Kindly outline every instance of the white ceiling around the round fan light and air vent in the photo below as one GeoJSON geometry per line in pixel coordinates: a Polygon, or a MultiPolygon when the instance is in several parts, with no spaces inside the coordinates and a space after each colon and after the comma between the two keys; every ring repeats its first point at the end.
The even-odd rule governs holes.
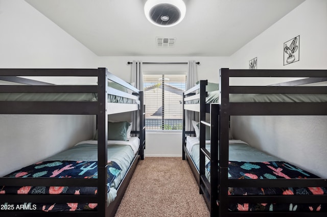
{"type": "Polygon", "coordinates": [[[146,0],[26,0],[98,56],[228,57],[304,0],[184,0],[168,28],[145,17],[146,0]],[[176,37],[157,47],[156,37],[176,37]]]}

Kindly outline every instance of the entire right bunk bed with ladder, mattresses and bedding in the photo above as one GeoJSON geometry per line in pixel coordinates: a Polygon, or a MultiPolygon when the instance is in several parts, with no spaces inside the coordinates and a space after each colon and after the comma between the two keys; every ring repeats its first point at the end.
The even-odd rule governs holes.
{"type": "MultiPolygon", "coordinates": [[[[186,106],[186,109],[190,108],[190,110],[198,107],[195,111],[200,111],[200,119],[201,112],[210,113],[210,122],[203,119],[200,120],[200,125],[202,125],[200,133],[201,130],[202,133],[200,134],[200,169],[198,176],[200,193],[203,194],[211,216],[272,216],[276,214],[283,216],[325,216],[327,212],[326,179],[303,171],[288,162],[278,160],[254,162],[252,165],[256,167],[260,164],[270,164],[269,166],[271,166],[272,170],[277,170],[278,167],[283,166],[285,172],[289,168],[293,171],[301,171],[309,175],[305,176],[301,173],[301,175],[290,175],[287,178],[282,178],[278,175],[277,178],[272,178],[272,176],[271,178],[263,178],[263,174],[254,173],[253,175],[255,177],[260,178],[255,178],[254,176],[246,178],[243,176],[242,178],[239,175],[240,173],[244,174],[244,171],[241,171],[241,166],[251,164],[251,162],[232,161],[229,159],[232,150],[230,150],[228,134],[230,116],[327,115],[326,86],[287,86],[290,84],[301,85],[326,81],[327,71],[220,69],[219,76],[219,103],[206,105],[205,100],[202,99],[201,101],[201,96],[198,96],[200,97],[199,105],[186,106]],[[297,80],[285,84],[258,87],[230,86],[229,79],[231,77],[305,78],[301,82],[297,80]],[[303,83],[303,80],[306,83],[303,83]],[[277,94],[280,98],[272,98],[271,96],[274,94],[277,94]],[[299,99],[296,97],[296,94],[308,97],[301,96],[301,99],[299,99]],[[287,96],[287,99],[285,96],[287,96]],[[253,97],[259,98],[253,99],[253,97]],[[209,111],[208,106],[210,107],[209,111]],[[201,107],[203,108],[202,111],[201,107]],[[201,142],[201,137],[205,136],[205,126],[209,126],[211,132],[218,132],[211,133],[209,149],[205,145],[205,142],[203,142],[203,138],[201,142]],[[244,192],[244,189],[248,190],[250,188],[257,190],[257,192],[252,194],[247,191],[246,193],[244,192]],[[294,192],[287,191],[290,195],[283,195],[282,191],[281,194],[269,195],[265,191],[266,189],[273,189],[273,192],[281,192],[281,188],[293,190],[297,188],[301,194],[296,195],[294,192]],[[258,189],[261,193],[258,193],[258,189]],[[319,191],[313,193],[311,191],[312,189],[313,191],[314,189],[318,189],[319,191]],[[275,209],[275,204],[284,207],[277,210],[275,209]],[[303,205],[307,210],[300,208],[294,209],[297,205],[299,207],[303,205]]],[[[203,83],[205,84],[205,81],[203,83]]],[[[201,91],[205,92],[204,87],[201,89],[201,84],[200,87],[195,87],[195,89],[200,89],[200,95],[201,91]]],[[[186,94],[190,95],[189,92],[186,92],[186,94]]],[[[192,100],[195,98],[195,95],[193,95],[191,96],[192,100]]],[[[205,94],[203,94],[203,97],[205,97],[205,94]]],[[[184,101],[188,101],[188,98],[184,99],[184,101]]],[[[185,154],[187,156],[188,152],[185,151],[185,154]]]]}

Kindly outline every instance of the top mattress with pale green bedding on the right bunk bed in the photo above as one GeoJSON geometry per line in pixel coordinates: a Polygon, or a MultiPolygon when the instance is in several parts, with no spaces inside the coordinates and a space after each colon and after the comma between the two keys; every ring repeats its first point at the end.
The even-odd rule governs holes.
{"type": "MultiPolygon", "coordinates": [[[[327,102],[327,94],[230,94],[230,102],[327,102]]],[[[218,103],[219,91],[208,92],[206,103],[218,103]]],[[[200,103],[200,99],[186,101],[200,103]]]]}

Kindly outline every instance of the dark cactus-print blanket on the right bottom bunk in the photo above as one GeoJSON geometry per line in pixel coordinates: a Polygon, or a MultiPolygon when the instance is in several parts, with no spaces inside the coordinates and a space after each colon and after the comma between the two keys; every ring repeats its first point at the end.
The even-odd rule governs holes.
{"type": "MultiPolygon", "coordinates": [[[[210,163],[206,165],[210,169],[210,163]]],[[[228,179],[319,178],[285,161],[229,161],[228,179]]],[[[229,187],[228,195],[327,195],[324,187],[229,187]]],[[[231,211],[323,211],[326,204],[230,204],[231,211]]]]}

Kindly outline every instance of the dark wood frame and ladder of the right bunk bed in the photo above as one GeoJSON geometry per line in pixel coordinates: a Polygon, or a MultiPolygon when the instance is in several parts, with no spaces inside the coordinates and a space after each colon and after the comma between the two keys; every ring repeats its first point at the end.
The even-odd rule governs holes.
{"type": "MultiPolygon", "coordinates": [[[[230,116],[276,116],[276,115],[327,115],[327,102],[230,102],[230,94],[269,94],[269,93],[297,93],[297,94],[327,94],[326,86],[322,87],[297,87],[297,85],[325,82],[327,70],[230,70],[220,69],[220,96],[219,103],[205,104],[205,82],[185,92],[185,95],[194,95],[196,89],[200,89],[200,171],[198,174],[192,168],[193,173],[199,177],[199,191],[211,213],[211,216],[325,216],[326,212],[230,212],[228,204],[232,203],[326,203],[327,195],[288,195],[288,196],[229,196],[228,187],[327,187],[325,178],[307,179],[228,179],[228,133],[230,116]],[[292,82],[274,84],[271,86],[229,86],[230,77],[308,77],[292,82]],[[201,94],[201,92],[204,92],[201,94]],[[201,100],[201,97],[203,98],[201,100]],[[208,108],[210,107],[210,108],[208,108]],[[202,109],[202,110],[201,110],[202,109]],[[207,123],[201,113],[210,113],[211,122],[207,123]],[[205,148],[205,125],[211,126],[211,151],[205,148]],[[202,127],[202,128],[201,128],[202,127]],[[202,132],[201,132],[202,130],[202,132]],[[215,154],[213,154],[215,153],[215,154]],[[210,181],[205,176],[205,157],[211,162],[210,181]],[[217,205],[219,203],[219,205],[217,205]]],[[[188,99],[185,99],[187,101],[188,99]]],[[[199,111],[199,108],[192,111],[199,111]]],[[[194,133],[184,131],[183,133],[194,133]]],[[[183,159],[185,134],[183,134],[183,159]]],[[[190,161],[189,161],[190,162],[190,161]]],[[[197,178],[196,177],[196,178],[197,178]]]]}

